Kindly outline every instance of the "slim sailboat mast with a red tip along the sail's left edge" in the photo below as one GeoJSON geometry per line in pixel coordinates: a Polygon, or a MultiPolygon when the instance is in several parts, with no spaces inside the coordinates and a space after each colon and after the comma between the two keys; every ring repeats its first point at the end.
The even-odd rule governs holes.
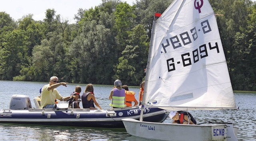
{"type": "Polygon", "coordinates": [[[146,78],[145,78],[145,85],[144,85],[144,93],[142,95],[142,105],[140,108],[140,121],[142,121],[143,118],[143,112],[144,112],[144,105],[145,105],[145,95],[147,94],[147,86],[148,86],[148,75],[149,75],[149,68],[150,68],[150,57],[152,53],[152,46],[153,46],[153,39],[155,34],[155,26],[156,26],[156,17],[160,17],[160,13],[155,13],[153,25],[152,25],[152,31],[151,31],[151,38],[150,38],[150,47],[149,47],[149,53],[148,53],[148,65],[146,67],[146,78]]]}

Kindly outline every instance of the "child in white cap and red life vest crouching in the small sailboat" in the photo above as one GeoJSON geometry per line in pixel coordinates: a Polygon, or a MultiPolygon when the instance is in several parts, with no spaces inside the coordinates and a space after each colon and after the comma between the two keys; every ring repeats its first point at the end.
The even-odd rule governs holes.
{"type": "Polygon", "coordinates": [[[196,119],[189,112],[177,111],[170,112],[170,118],[173,119],[172,123],[178,124],[196,124],[196,119]]]}

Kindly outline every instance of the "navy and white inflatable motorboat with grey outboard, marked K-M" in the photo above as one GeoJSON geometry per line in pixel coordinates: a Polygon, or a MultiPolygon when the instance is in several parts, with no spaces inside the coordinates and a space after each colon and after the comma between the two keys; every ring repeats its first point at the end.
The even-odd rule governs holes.
{"type": "MultiPolygon", "coordinates": [[[[124,128],[122,119],[138,120],[141,111],[140,106],[107,110],[73,109],[68,107],[68,102],[56,104],[56,109],[40,109],[37,98],[34,98],[34,103],[36,108],[32,108],[28,96],[13,95],[9,109],[0,110],[0,123],[124,128]]],[[[167,115],[166,110],[144,107],[143,121],[161,123],[167,115]]]]}

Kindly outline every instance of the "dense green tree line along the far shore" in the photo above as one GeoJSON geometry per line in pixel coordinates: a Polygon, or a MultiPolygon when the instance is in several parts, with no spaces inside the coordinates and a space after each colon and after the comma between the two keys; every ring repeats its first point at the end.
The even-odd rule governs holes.
{"type": "MultiPolygon", "coordinates": [[[[145,77],[154,13],[173,0],[102,0],[79,9],[70,24],[45,12],[14,21],[0,12],[0,79],[138,86],[145,77]]],[[[256,90],[256,4],[251,0],[209,0],[215,14],[234,90],[256,90]]]]}

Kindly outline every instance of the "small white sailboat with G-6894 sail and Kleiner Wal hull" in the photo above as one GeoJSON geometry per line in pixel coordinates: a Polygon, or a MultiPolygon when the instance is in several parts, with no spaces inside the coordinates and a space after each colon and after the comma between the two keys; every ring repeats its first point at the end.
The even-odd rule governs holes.
{"type": "MultiPolygon", "coordinates": [[[[174,0],[154,20],[144,88],[143,106],[172,111],[236,109],[208,0],[174,0]]],[[[184,125],[145,122],[142,118],[122,121],[127,133],[149,139],[237,140],[238,128],[232,123],[184,125]]]]}

